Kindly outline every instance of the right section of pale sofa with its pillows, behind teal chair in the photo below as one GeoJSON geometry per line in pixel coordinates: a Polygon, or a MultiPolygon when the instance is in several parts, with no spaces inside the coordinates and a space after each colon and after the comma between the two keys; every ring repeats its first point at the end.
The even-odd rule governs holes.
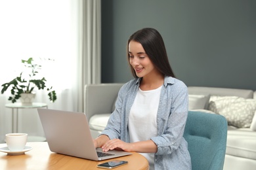
{"type": "Polygon", "coordinates": [[[217,112],[228,120],[223,169],[255,169],[256,129],[253,126],[256,124],[256,116],[254,119],[253,116],[256,110],[256,92],[232,88],[188,87],[188,93],[190,110],[217,112]],[[201,101],[196,99],[200,96],[201,101]],[[204,101],[203,97],[206,98],[204,101]]]}

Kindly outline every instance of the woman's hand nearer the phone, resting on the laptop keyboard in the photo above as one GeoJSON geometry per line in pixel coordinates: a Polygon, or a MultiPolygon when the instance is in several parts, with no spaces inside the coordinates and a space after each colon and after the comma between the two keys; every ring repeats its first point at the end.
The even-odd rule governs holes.
{"type": "Polygon", "coordinates": [[[121,141],[120,139],[112,139],[110,141],[107,141],[102,145],[102,150],[104,152],[107,152],[108,150],[124,150],[126,152],[131,152],[132,150],[132,144],[131,143],[125,143],[121,141]]]}

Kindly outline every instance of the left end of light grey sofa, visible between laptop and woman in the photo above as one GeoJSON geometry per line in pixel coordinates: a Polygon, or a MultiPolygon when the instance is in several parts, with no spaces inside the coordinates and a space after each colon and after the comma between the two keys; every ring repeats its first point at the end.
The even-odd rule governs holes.
{"type": "Polygon", "coordinates": [[[105,128],[115,109],[117,93],[123,84],[87,84],[84,89],[85,114],[95,138],[105,128]]]}

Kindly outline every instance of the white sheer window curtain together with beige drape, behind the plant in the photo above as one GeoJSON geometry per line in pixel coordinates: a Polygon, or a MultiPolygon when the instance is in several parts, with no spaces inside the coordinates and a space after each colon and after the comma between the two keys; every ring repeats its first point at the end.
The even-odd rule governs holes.
{"type": "MultiPolygon", "coordinates": [[[[58,99],[38,90],[35,102],[83,112],[84,84],[100,82],[100,0],[0,0],[0,23],[0,86],[20,74],[21,59],[51,58],[41,74],[58,99]]],[[[12,132],[9,95],[0,94],[0,143],[12,132]]],[[[44,135],[36,109],[18,114],[18,132],[44,135]]]]}

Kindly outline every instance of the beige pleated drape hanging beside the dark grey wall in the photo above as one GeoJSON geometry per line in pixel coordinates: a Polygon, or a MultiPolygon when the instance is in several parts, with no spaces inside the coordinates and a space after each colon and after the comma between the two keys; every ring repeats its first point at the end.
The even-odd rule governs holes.
{"type": "MultiPolygon", "coordinates": [[[[79,73],[79,92],[85,84],[96,84],[101,81],[101,1],[81,1],[80,41],[81,52],[79,73]]],[[[82,93],[83,94],[83,93],[82,93]]],[[[83,108],[83,95],[79,96],[79,108],[83,108]]],[[[84,110],[84,109],[83,109],[84,110]]],[[[82,110],[79,110],[82,111],[82,110]]]]}

